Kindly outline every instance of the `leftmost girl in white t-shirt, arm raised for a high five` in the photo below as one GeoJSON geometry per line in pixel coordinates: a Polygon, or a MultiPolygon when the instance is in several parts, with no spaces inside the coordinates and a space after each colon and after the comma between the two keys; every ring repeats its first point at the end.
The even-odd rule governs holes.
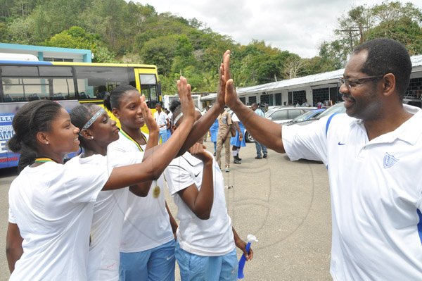
{"type": "Polygon", "coordinates": [[[180,139],[191,130],[194,107],[183,77],[178,90],[189,116],[185,131],[143,163],[113,170],[106,158],[84,165],[75,159],[63,165],[65,154],[79,148],[79,129],[60,104],[39,100],[20,108],[13,119],[15,135],[9,149],[19,152],[25,146],[37,158],[9,190],[6,255],[11,280],[87,280],[89,231],[98,193],[156,180],[179,151],[180,139]]]}

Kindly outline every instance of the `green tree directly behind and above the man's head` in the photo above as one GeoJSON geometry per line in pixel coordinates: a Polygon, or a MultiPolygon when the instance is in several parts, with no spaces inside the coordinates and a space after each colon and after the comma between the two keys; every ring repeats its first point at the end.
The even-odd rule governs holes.
{"type": "Polygon", "coordinates": [[[319,63],[326,69],[339,68],[355,46],[379,37],[396,39],[410,54],[421,54],[421,23],[422,12],[411,3],[383,1],[354,7],[338,19],[337,38],[319,47],[319,63]]]}

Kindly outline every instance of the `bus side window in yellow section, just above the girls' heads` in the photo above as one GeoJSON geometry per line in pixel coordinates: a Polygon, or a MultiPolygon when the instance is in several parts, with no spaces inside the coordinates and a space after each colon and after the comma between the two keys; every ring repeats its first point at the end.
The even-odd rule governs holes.
{"type": "Polygon", "coordinates": [[[133,68],[108,66],[75,66],[78,99],[103,99],[121,84],[134,80],[133,68]]]}

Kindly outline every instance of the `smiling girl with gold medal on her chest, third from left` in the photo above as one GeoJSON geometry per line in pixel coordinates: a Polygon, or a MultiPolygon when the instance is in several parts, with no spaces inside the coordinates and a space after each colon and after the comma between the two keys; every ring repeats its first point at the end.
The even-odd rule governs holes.
{"type": "MultiPolygon", "coordinates": [[[[150,135],[141,132],[146,116],[139,104],[139,92],[120,85],[104,99],[109,111],[120,120],[122,130],[117,142],[108,146],[111,166],[120,166],[125,154],[143,156],[148,143],[158,144],[158,127],[150,135]]],[[[148,116],[149,117],[149,116],[148,116]]],[[[157,146],[158,148],[160,146],[157,146]]],[[[146,152],[148,153],[148,152],[146,152]]],[[[174,233],[176,220],[165,202],[164,178],[141,196],[129,193],[120,244],[120,280],[174,280],[174,233]]]]}

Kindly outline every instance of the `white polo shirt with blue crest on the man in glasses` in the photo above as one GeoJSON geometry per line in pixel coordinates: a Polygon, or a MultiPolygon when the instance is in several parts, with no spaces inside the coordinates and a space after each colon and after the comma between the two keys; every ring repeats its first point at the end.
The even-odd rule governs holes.
{"type": "Polygon", "coordinates": [[[328,166],[334,280],[422,280],[422,111],[369,141],[362,120],[334,115],[283,126],[290,160],[328,166]]]}

